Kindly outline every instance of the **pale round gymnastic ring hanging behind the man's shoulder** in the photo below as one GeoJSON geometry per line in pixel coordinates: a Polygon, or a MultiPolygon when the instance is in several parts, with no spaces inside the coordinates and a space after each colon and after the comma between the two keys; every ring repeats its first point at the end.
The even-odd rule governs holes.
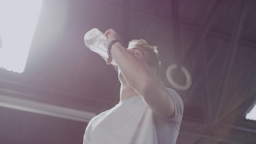
{"type": "Polygon", "coordinates": [[[181,67],[181,71],[183,72],[183,74],[186,77],[186,83],[184,86],[178,85],[176,82],[174,82],[174,80],[172,79],[172,70],[177,68],[177,64],[172,64],[170,65],[167,70],[166,70],[166,77],[168,82],[176,89],[181,90],[181,91],[185,91],[187,89],[189,89],[189,87],[192,84],[192,79],[191,76],[189,74],[189,71],[185,68],[185,67],[181,67]]]}

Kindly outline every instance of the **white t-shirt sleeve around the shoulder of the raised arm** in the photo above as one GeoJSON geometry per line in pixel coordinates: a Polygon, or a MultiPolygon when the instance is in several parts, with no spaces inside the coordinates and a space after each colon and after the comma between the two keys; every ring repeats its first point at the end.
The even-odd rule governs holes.
{"type": "Polygon", "coordinates": [[[175,114],[172,118],[162,117],[162,119],[171,126],[180,126],[182,121],[182,115],[183,115],[183,101],[181,97],[179,97],[179,94],[176,91],[174,91],[171,88],[167,88],[167,90],[171,93],[172,98],[174,100],[175,114]]]}

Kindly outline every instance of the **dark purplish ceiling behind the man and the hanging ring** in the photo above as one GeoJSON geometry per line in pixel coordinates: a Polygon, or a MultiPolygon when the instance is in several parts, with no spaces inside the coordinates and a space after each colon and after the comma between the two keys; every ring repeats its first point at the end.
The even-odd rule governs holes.
{"type": "Polygon", "coordinates": [[[126,44],[146,39],[159,46],[166,87],[175,89],[166,79],[169,65],[190,71],[191,87],[175,89],[184,102],[177,143],[256,143],[256,123],[245,119],[256,99],[256,1],[182,0],[178,16],[173,2],[45,0],[25,71],[0,69],[0,93],[95,113],[110,109],[119,101],[117,73],[85,47],[84,34],[114,28],[126,44]]]}

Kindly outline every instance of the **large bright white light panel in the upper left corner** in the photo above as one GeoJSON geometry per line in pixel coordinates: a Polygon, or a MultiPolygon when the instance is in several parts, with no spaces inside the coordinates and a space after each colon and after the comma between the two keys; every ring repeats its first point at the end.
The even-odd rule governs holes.
{"type": "Polygon", "coordinates": [[[0,68],[22,73],[43,0],[0,0],[0,68]]]}

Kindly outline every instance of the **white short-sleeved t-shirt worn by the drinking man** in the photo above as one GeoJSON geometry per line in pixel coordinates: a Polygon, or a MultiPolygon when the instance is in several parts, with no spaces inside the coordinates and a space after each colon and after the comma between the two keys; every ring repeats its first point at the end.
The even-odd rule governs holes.
{"type": "Polygon", "coordinates": [[[85,130],[84,144],[174,144],[183,115],[178,93],[167,88],[175,103],[173,118],[154,113],[137,95],[121,100],[112,109],[92,118],[85,130]]]}

